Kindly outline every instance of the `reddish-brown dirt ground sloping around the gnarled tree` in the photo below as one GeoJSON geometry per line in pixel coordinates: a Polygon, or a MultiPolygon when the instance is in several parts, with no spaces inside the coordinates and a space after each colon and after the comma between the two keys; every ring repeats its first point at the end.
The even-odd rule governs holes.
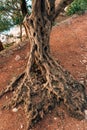
{"type": "MultiPolygon", "coordinates": [[[[52,56],[87,88],[87,14],[74,16],[54,26],[50,44],[52,56]]],[[[29,44],[26,41],[0,53],[0,91],[6,88],[12,77],[25,69],[28,52],[29,44]]],[[[1,110],[1,106],[8,103],[11,97],[12,94],[7,94],[0,99],[0,130],[26,130],[22,107],[17,111],[1,110]]],[[[61,104],[31,130],[87,130],[87,120],[78,121],[70,117],[61,104]]]]}

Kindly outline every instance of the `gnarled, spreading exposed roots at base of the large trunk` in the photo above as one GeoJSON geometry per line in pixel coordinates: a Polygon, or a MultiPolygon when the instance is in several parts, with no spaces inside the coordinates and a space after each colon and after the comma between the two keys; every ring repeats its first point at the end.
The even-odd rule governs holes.
{"type": "Polygon", "coordinates": [[[44,62],[34,60],[29,73],[24,72],[13,79],[0,93],[0,97],[10,91],[13,91],[13,97],[3,108],[18,107],[22,103],[27,117],[27,129],[42,119],[61,100],[72,116],[84,118],[84,110],[87,107],[84,86],[75,81],[71,74],[62,69],[49,55],[45,56],[44,62]]]}

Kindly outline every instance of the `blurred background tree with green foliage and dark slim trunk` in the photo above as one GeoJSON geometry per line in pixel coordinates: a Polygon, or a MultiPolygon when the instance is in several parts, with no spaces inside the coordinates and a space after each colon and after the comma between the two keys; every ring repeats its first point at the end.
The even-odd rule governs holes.
{"type": "Polygon", "coordinates": [[[0,32],[20,25],[22,39],[22,24],[27,13],[30,13],[30,5],[27,5],[25,0],[0,0],[0,32]]]}

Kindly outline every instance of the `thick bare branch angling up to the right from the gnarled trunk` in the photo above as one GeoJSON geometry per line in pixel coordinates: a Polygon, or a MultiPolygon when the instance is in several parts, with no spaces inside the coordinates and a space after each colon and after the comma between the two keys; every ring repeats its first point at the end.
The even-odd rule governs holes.
{"type": "Polygon", "coordinates": [[[60,12],[62,12],[64,10],[64,8],[67,5],[71,4],[72,2],[73,2],[73,0],[60,0],[59,4],[55,10],[54,19],[60,14],[60,12]]]}

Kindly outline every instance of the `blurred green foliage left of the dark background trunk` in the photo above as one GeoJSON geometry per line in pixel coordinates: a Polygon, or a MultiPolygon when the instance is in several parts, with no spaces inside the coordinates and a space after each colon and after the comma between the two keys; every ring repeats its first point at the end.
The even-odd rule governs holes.
{"type": "Polygon", "coordinates": [[[9,29],[14,24],[20,23],[22,20],[22,15],[18,0],[17,3],[15,0],[0,0],[0,16],[1,25],[3,25],[3,28],[2,26],[0,28],[0,32],[9,29]]]}

